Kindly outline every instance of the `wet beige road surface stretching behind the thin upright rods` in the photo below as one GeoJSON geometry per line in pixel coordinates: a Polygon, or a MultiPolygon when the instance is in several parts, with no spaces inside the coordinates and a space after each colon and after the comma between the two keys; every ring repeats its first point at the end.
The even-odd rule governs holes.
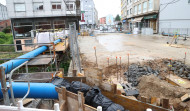
{"type": "MultiPolygon", "coordinates": [[[[170,38],[171,40],[172,38],[170,38]]],[[[187,52],[187,63],[190,64],[190,40],[179,40],[177,45],[166,44],[168,38],[159,35],[141,36],[123,33],[99,34],[96,37],[80,37],[80,51],[89,62],[95,62],[94,47],[97,49],[98,65],[107,66],[107,58],[115,64],[116,56],[127,63],[127,54],[130,54],[130,63],[146,60],[172,58],[184,60],[187,52]]]]}

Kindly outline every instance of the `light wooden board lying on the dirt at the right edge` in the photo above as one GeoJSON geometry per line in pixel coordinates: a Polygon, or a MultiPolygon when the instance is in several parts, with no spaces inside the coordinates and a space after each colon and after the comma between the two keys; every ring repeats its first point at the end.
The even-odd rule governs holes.
{"type": "Polygon", "coordinates": [[[180,78],[180,77],[178,77],[176,75],[172,75],[172,74],[166,76],[166,79],[169,83],[171,83],[173,85],[181,86],[181,87],[184,87],[186,89],[190,88],[190,81],[187,79],[183,79],[183,78],[180,78]]]}

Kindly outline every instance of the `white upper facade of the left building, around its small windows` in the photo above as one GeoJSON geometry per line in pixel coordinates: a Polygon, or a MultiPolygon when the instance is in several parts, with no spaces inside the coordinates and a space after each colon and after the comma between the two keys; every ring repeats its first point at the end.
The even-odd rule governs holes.
{"type": "MultiPolygon", "coordinates": [[[[71,0],[67,0],[71,1],[71,0]]],[[[76,0],[72,0],[76,1],[76,0]]],[[[67,7],[63,0],[6,0],[10,18],[30,18],[30,17],[49,17],[49,16],[66,16],[67,7]],[[34,11],[34,2],[43,3],[43,10],[34,11]],[[52,2],[61,2],[61,9],[53,10],[52,2]],[[24,3],[26,11],[16,12],[15,3],[24,3]]]]}

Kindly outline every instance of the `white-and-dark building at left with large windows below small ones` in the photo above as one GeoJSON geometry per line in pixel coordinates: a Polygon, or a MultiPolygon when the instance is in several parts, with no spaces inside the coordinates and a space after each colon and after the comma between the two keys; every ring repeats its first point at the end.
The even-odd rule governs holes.
{"type": "MultiPolygon", "coordinates": [[[[6,0],[6,3],[15,44],[35,43],[32,30],[66,30],[71,22],[79,29],[80,0],[6,0]]],[[[17,45],[17,51],[23,49],[17,45]]]]}

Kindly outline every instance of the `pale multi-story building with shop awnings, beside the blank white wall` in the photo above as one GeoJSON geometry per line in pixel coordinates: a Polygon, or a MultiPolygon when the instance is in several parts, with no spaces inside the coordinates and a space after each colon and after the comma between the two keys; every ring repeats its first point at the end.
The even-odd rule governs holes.
{"type": "Polygon", "coordinates": [[[127,29],[139,30],[142,27],[152,28],[154,33],[158,32],[158,12],[160,0],[127,0],[127,29]]]}

